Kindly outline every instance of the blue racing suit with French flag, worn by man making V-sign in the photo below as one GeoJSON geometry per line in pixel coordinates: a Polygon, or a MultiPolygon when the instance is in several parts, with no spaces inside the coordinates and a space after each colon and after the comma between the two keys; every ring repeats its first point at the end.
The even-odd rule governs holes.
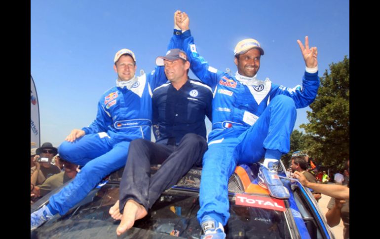
{"type": "Polygon", "coordinates": [[[246,77],[238,73],[232,76],[209,66],[197,53],[190,30],[182,34],[182,39],[191,70],[214,93],[212,131],[203,156],[197,217],[200,222],[204,215],[211,214],[226,225],[230,175],[238,164],[255,163],[264,156],[280,159],[281,153],[289,152],[296,108],[314,101],[318,71],[305,71],[302,87],[293,89],[275,85],[268,78],[246,83],[246,77]]]}

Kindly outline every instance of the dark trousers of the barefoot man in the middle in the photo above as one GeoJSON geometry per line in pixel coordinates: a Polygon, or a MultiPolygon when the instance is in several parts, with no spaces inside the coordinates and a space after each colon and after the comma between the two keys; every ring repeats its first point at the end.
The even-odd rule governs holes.
{"type": "Polygon", "coordinates": [[[133,140],[120,182],[120,213],[129,199],[144,205],[148,211],[161,193],[175,185],[193,165],[202,165],[206,150],[206,140],[196,134],[185,135],[178,146],[142,138],[133,140]],[[151,164],[161,164],[152,176],[151,164]]]}

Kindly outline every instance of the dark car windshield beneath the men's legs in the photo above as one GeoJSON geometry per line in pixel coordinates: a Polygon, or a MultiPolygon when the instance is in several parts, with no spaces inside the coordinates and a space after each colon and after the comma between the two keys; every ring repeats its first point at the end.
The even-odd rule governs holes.
{"type": "MultiPolygon", "coordinates": [[[[118,199],[118,184],[106,184],[93,201],[72,209],[58,220],[50,220],[38,228],[38,238],[115,237],[119,221],[108,213],[118,199]]],[[[136,221],[126,235],[133,238],[200,238],[196,219],[198,195],[194,192],[169,190],[153,205],[144,219],[136,221]]],[[[235,205],[230,200],[230,219],[225,227],[228,238],[291,238],[285,213],[258,207],[235,205]]]]}

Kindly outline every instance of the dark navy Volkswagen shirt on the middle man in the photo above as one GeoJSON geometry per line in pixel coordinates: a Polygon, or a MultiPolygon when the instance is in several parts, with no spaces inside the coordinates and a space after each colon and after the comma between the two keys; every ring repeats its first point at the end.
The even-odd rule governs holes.
{"type": "Polygon", "coordinates": [[[156,142],[179,144],[194,133],[206,138],[205,116],[211,121],[212,91],[189,79],[178,91],[168,82],[153,90],[153,134],[156,142]],[[169,141],[169,142],[168,142],[169,141]]]}

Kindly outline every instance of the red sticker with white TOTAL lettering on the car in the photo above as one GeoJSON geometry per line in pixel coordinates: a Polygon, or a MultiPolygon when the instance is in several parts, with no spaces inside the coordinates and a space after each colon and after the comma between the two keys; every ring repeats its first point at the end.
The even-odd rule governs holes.
{"type": "Polygon", "coordinates": [[[261,207],[276,211],[285,211],[285,204],[283,200],[251,196],[246,194],[236,194],[235,204],[243,206],[261,207]]]}

